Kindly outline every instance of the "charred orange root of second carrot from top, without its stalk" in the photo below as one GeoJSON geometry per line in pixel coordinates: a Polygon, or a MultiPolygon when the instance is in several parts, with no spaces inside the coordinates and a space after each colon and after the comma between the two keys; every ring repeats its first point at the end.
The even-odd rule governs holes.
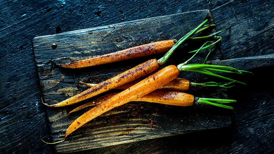
{"type": "Polygon", "coordinates": [[[61,106],[75,104],[77,102],[80,102],[85,99],[89,99],[93,96],[99,95],[100,93],[114,89],[115,87],[118,87],[120,85],[131,82],[131,81],[138,79],[142,76],[150,74],[150,73],[154,72],[155,70],[157,70],[158,68],[159,68],[159,64],[157,62],[157,59],[151,59],[151,60],[146,61],[142,64],[139,64],[136,67],[133,67],[132,69],[129,69],[117,76],[114,76],[113,78],[107,79],[104,82],[96,84],[96,86],[94,86],[90,89],[87,89],[84,92],[81,92],[75,96],[72,96],[64,101],[61,101],[61,102],[59,102],[57,104],[53,104],[53,105],[47,105],[47,104],[45,104],[45,105],[47,105],[49,107],[61,107],[61,106]]]}

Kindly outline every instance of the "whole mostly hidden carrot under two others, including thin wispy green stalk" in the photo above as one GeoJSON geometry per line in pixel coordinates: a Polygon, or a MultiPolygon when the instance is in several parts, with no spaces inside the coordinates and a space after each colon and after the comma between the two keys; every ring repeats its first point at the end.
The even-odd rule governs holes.
{"type": "MultiPolygon", "coordinates": [[[[121,86],[116,87],[114,89],[124,90],[124,89],[127,89],[127,88],[131,87],[132,85],[135,85],[139,81],[141,81],[141,80],[136,79],[132,82],[121,85],[121,86]]],[[[88,87],[96,86],[96,84],[85,83],[85,82],[82,82],[82,81],[80,81],[79,83],[85,84],[88,87]]],[[[169,83],[167,83],[167,84],[163,85],[162,87],[160,87],[158,90],[179,90],[179,91],[183,91],[183,90],[189,90],[189,87],[191,87],[191,86],[230,88],[230,87],[233,87],[234,85],[232,85],[232,86],[227,86],[227,85],[232,84],[232,83],[233,83],[233,81],[228,82],[228,83],[216,83],[216,82],[195,83],[195,82],[190,82],[188,79],[175,78],[172,81],[170,81],[169,83]]]]}

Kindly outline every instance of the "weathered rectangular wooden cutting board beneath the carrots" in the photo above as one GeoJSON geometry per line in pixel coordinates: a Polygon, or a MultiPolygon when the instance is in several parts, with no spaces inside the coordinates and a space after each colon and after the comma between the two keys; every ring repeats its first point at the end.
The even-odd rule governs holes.
{"type": "MultiPolygon", "coordinates": [[[[75,61],[115,52],[138,44],[173,38],[179,39],[206,18],[213,22],[208,10],[199,10],[35,37],[33,39],[33,50],[42,97],[46,103],[55,104],[87,89],[84,85],[78,84],[79,81],[99,83],[148,59],[160,58],[163,54],[84,69],[54,67],[51,63],[53,60],[75,61]],[[57,44],[56,49],[51,48],[53,43],[57,44]]],[[[186,54],[186,51],[196,49],[199,45],[199,42],[195,42],[191,48],[188,45],[183,50],[182,48],[177,50],[166,65],[176,65],[185,61],[190,56],[186,54]]],[[[215,60],[220,57],[220,52],[217,50],[210,59],[215,60]]],[[[200,61],[199,56],[194,59],[194,62],[200,61]]],[[[181,73],[179,77],[185,77],[186,74],[181,73]]],[[[204,81],[201,76],[196,76],[195,73],[190,75],[188,78],[192,81],[204,81]],[[195,77],[190,75],[195,75],[195,77]]],[[[228,97],[223,89],[200,90],[203,92],[190,90],[189,93],[200,97],[228,97]],[[214,95],[210,95],[211,93],[214,95]]],[[[84,112],[68,117],[68,112],[76,106],[47,107],[47,116],[54,142],[61,140],[67,127],[84,112]]],[[[67,153],[229,127],[230,124],[229,112],[225,109],[217,110],[214,107],[199,105],[177,107],[147,102],[130,102],[90,121],[68,136],[65,142],[56,144],[55,148],[56,152],[67,153]],[[152,128],[150,128],[151,121],[153,121],[152,128]]]]}

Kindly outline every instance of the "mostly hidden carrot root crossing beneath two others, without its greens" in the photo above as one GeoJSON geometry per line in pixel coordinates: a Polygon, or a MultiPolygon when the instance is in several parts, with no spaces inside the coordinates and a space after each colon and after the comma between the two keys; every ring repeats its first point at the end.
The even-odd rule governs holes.
{"type": "MultiPolygon", "coordinates": [[[[131,87],[132,85],[135,85],[136,83],[138,83],[139,81],[141,81],[140,79],[134,80],[132,82],[129,82],[127,84],[121,85],[119,87],[116,87],[115,89],[127,89],[129,87],[131,87]]],[[[96,84],[90,84],[90,83],[85,83],[85,82],[81,82],[82,84],[87,85],[88,87],[93,87],[96,84]]],[[[190,87],[190,82],[188,79],[183,79],[183,78],[175,78],[172,81],[170,81],[169,83],[163,85],[162,87],[160,87],[159,89],[161,90],[189,90],[190,87]]],[[[158,89],[158,90],[159,90],[158,89]]]]}

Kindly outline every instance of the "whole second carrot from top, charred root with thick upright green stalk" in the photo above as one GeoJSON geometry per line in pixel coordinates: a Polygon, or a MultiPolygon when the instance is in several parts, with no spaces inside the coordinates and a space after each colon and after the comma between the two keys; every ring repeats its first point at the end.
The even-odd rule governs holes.
{"type": "Polygon", "coordinates": [[[164,55],[164,57],[162,57],[158,61],[156,59],[149,60],[113,78],[110,78],[104,82],[101,82],[97,84],[95,87],[87,89],[84,92],[79,93],[78,95],[72,96],[71,98],[68,98],[57,104],[53,104],[53,105],[45,104],[45,105],[49,107],[61,107],[61,106],[71,105],[71,104],[83,101],[85,99],[91,98],[93,96],[96,96],[100,93],[106,92],[110,89],[113,89],[125,83],[131,82],[135,79],[140,78],[141,76],[145,76],[149,73],[154,72],[155,70],[159,68],[159,65],[164,64],[169,59],[171,54],[175,51],[175,49],[180,44],[182,44],[190,36],[194,35],[198,31],[198,29],[201,28],[202,25],[204,25],[206,22],[207,20],[205,20],[198,27],[196,27],[195,29],[187,33],[185,36],[183,36],[178,42],[176,42],[175,45],[173,45],[173,47],[164,55]]]}

